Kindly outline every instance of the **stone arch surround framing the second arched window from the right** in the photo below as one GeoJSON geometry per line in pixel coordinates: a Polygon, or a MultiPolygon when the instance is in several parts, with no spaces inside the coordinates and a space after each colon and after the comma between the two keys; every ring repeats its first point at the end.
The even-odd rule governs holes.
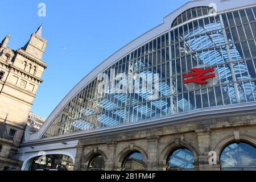
{"type": "Polygon", "coordinates": [[[168,144],[160,154],[159,166],[163,166],[164,168],[166,168],[168,156],[170,156],[172,151],[174,151],[178,148],[187,148],[188,150],[190,150],[192,152],[192,154],[194,156],[195,169],[197,169],[198,165],[199,165],[199,155],[197,154],[196,149],[193,146],[191,146],[191,144],[189,144],[187,142],[178,142],[178,143],[172,142],[172,143],[168,144]]]}

